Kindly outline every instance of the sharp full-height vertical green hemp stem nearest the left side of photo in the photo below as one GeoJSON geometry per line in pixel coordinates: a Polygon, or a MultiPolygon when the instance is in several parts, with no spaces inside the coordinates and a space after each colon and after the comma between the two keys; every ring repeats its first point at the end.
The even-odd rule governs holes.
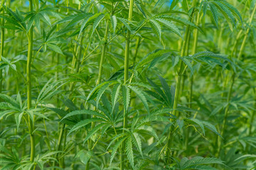
{"type": "MultiPolygon", "coordinates": [[[[29,11],[33,11],[33,0],[29,0],[29,11]]],[[[26,77],[27,77],[27,98],[28,98],[28,109],[31,108],[31,59],[33,55],[33,28],[29,30],[28,33],[28,60],[26,67],[26,77]]],[[[29,135],[31,139],[31,156],[30,161],[33,162],[35,157],[35,139],[33,136],[33,121],[28,115],[28,128],[29,135]]]]}

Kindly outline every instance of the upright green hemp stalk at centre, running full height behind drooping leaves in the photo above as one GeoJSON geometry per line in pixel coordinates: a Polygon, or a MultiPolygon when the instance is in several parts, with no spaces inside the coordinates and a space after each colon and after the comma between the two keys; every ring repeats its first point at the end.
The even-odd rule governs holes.
{"type": "MultiPolygon", "coordinates": [[[[133,12],[133,4],[134,0],[130,0],[129,2],[129,16],[128,21],[132,21],[132,12],[133,12]]],[[[125,44],[125,52],[124,52],[124,84],[127,84],[128,76],[129,76],[129,45],[130,45],[130,37],[131,32],[127,30],[126,44],[125,44]]],[[[124,109],[124,123],[123,128],[127,128],[127,111],[124,109]]],[[[121,154],[120,154],[120,169],[124,169],[124,144],[121,145],[121,154]]]]}

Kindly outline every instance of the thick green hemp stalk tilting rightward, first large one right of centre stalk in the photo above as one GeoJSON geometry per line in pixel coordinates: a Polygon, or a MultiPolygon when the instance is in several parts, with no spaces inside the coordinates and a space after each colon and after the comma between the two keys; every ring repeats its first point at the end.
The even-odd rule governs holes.
{"type": "MultiPolygon", "coordinates": [[[[196,2],[197,2],[197,0],[193,0],[192,6],[191,6],[192,8],[194,8],[196,6],[196,2]]],[[[191,18],[189,19],[189,21],[192,22],[193,21],[193,12],[192,12],[192,15],[190,17],[191,18]]],[[[186,33],[185,33],[184,40],[183,40],[183,45],[182,45],[182,48],[181,48],[181,57],[184,57],[184,55],[185,55],[186,45],[188,43],[188,38],[189,38],[190,33],[191,33],[191,26],[187,26],[186,33]]],[[[180,92],[180,89],[181,89],[182,74],[183,74],[183,62],[180,62],[179,66],[178,66],[178,79],[177,79],[176,91],[175,91],[175,96],[174,96],[173,115],[175,115],[175,116],[177,114],[176,108],[178,106],[178,99],[179,99],[179,92],[180,92]]],[[[166,161],[168,163],[171,161],[170,155],[171,155],[171,142],[172,142],[173,133],[174,133],[174,125],[171,125],[171,128],[169,130],[167,149],[166,149],[166,161]]]]}

